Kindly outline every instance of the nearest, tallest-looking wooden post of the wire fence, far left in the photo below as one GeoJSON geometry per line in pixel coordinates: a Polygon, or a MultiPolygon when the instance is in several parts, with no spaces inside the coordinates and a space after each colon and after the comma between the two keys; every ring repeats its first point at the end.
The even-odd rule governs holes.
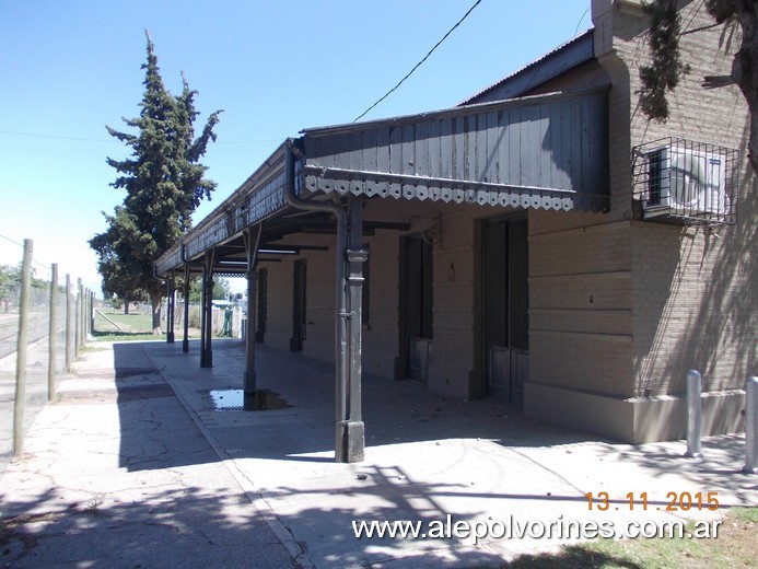
{"type": "Polygon", "coordinates": [[[24,240],[19,297],[19,344],[15,359],[15,398],[13,399],[13,456],[24,452],[24,407],[26,406],[26,341],[28,340],[28,295],[32,277],[33,242],[24,240]]]}

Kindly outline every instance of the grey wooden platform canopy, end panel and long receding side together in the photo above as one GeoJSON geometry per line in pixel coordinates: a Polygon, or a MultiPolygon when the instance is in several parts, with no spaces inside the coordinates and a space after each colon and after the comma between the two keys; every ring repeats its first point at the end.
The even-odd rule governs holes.
{"type": "MultiPolygon", "coordinates": [[[[294,148],[300,197],[443,201],[462,206],[607,211],[606,89],[536,95],[383,120],[305,129],[284,141],[232,196],[155,264],[164,276],[199,266],[247,270],[243,233],[263,223],[259,257],[296,254],[276,242],[328,231],[328,216],[285,200],[284,156],[294,148]]],[[[378,229],[378,228],[374,228],[378,229]]],[[[401,228],[396,228],[401,229],[401,228]]],[[[372,231],[365,222],[365,231],[372,231]]],[[[302,247],[305,247],[303,245],[302,247]]],[[[300,248],[302,248],[300,247],[300,248]]]]}

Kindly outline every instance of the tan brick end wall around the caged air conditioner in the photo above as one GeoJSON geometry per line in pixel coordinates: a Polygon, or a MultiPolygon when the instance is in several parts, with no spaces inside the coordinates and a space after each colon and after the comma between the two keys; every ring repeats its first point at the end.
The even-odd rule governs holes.
{"type": "MultiPolygon", "coordinates": [[[[700,2],[688,3],[680,14],[686,28],[713,23],[700,2]]],[[[708,391],[738,388],[755,373],[748,368],[755,367],[758,345],[756,191],[744,152],[748,116],[736,86],[701,86],[704,76],[730,73],[738,34],[719,26],[681,37],[683,57],[691,69],[669,95],[669,119],[658,124],[639,111],[634,94],[638,68],[648,58],[646,25],[644,18],[615,12],[614,51],[602,59],[615,85],[625,73],[630,83],[628,93],[611,91],[611,107],[618,111],[611,125],[622,124],[625,113],[629,117],[628,144],[620,136],[611,141],[617,147],[613,155],[618,155],[611,163],[615,202],[623,207],[631,201],[631,148],[663,137],[743,150],[743,184],[735,227],[631,224],[634,394],[681,394],[692,368],[703,373],[708,391]]]]}

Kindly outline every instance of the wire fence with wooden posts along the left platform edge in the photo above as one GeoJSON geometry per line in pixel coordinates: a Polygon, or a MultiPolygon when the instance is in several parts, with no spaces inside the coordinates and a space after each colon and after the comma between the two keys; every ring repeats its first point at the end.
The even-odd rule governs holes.
{"type": "Polygon", "coordinates": [[[19,263],[0,266],[0,474],[92,333],[94,294],[33,256],[25,240],[19,263]]]}

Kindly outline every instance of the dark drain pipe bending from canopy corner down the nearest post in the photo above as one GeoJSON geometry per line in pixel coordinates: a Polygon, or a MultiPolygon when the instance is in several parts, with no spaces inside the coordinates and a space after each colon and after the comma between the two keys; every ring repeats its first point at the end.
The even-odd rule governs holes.
{"type": "Polygon", "coordinates": [[[284,147],[284,199],[296,209],[323,211],[337,218],[337,269],[336,269],[336,314],[335,314],[335,461],[348,462],[347,421],[348,417],[348,297],[345,287],[347,249],[347,213],[338,204],[302,199],[294,193],[294,153],[300,150],[292,139],[284,147]]]}

